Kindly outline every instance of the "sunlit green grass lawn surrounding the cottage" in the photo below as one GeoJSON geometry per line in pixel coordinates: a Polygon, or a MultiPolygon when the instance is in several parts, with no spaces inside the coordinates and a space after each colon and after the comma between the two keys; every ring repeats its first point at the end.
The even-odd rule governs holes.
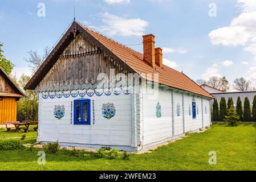
{"type": "MultiPolygon", "coordinates": [[[[21,135],[0,130],[0,140],[21,135]]],[[[27,137],[29,142],[35,140],[36,132],[27,137]]],[[[90,152],[76,157],[61,150],[46,154],[46,164],[39,165],[38,150],[0,151],[1,170],[256,170],[256,129],[255,124],[214,124],[204,133],[190,134],[151,153],[131,154],[129,160],[98,159],[90,152]],[[216,165],[208,163],[210,151],[217,152],[216,165]]]]}

